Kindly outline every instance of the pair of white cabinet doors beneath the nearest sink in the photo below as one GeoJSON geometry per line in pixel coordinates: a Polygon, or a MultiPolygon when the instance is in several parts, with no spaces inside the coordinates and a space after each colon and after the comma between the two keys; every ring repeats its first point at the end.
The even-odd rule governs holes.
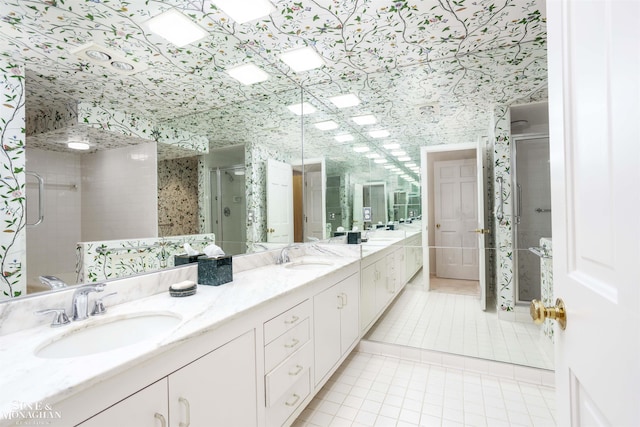
{"type": "Polygon", "coordinates": [[[255,378],[255,337],[250,331],[79,426],[255,426],[255,378]]]}

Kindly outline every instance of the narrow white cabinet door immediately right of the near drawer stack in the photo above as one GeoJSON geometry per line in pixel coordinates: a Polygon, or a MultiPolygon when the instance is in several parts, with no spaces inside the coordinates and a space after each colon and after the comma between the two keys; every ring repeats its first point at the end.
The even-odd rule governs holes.
{"type": "Polygon", "coordinates": [[[340,290],[338,285],[313,297],[316,384],[340,359],[340,290]]]}

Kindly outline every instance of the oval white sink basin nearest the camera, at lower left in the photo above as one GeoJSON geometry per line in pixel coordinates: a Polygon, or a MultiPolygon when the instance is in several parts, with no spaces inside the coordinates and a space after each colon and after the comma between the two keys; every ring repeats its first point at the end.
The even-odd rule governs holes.
{"type": "Polygon", "coordinates": [[[87,323],[78,325],[80,329],[44,343],[35,354],[45,359],[64,359],[115,350],[166,334],[181,320],[180,316],[172,313],[89,319],[87,323]]]}

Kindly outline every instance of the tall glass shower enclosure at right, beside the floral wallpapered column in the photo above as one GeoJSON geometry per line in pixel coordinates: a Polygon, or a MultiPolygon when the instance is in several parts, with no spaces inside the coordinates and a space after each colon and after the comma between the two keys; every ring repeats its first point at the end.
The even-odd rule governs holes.
{"type": "Polygon", "coordinates": [[[551,237],[549,137],[518,137],[513,143],[516,302],[529,303],[541,297],[540,252],[536,249],[541,237],[551,237]]]}

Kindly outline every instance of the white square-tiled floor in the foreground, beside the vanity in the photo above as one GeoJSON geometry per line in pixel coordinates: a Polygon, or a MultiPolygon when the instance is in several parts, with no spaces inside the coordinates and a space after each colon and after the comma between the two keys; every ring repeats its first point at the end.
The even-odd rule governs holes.
{"type": "Polygon", "coordinates": [[[294,427],[553,427],[553,387],[353,352],[294,427]]]}

